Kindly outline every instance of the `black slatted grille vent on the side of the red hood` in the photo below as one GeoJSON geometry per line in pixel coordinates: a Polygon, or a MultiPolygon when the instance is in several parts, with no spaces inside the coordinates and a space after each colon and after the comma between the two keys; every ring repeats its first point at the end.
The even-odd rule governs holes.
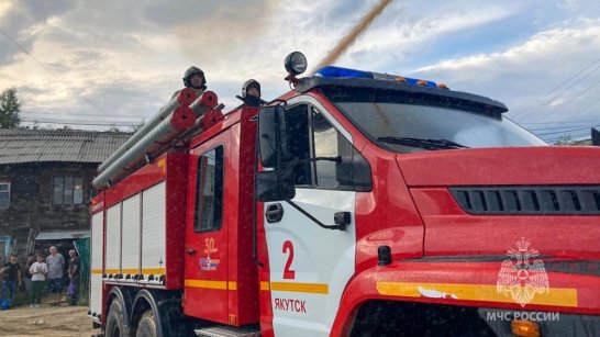
{"type": "Polygon", "coordinates": [[[453,187],[463,211],[490,215],[600,215],[600,186],[453,187]]]}

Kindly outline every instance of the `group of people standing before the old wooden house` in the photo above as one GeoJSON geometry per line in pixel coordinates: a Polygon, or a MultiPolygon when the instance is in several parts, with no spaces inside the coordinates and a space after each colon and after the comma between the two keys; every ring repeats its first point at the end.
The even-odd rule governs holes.
{"type": "Polygon", "coordinates": [[[66,295],[69,305],[77,305],[80,269],[79,257],[75,249],[69,250],[68,265],[54,246],[49,248],[47,257],[42,254],[36,257],[30,255],[24,265],[19,263],[16,254],[12,254],[10,260],[0,269],[3,277],[0,304],[2,308],[13,307],[16,290],[24,288],[30,297],[31,307],[40,306],[46,290],[52,294],[51,305],[60,305],[63,289],[66,285],[66,282],[63,282],[66,271],[69,279],[66,295]]]}

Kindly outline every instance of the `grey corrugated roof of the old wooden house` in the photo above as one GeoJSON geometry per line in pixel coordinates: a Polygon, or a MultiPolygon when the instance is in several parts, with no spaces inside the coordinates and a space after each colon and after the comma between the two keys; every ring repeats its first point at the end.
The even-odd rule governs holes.
{"type": "Polygon", "coordinates": [[[102,162],[132,133],[0,130],[0,165],[40,161],[102,162]]]}

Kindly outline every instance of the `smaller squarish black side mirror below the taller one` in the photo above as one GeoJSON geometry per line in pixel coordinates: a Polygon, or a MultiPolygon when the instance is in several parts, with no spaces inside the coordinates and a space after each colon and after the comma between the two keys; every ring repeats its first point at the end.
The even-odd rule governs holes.
{"type": "Polygon", "coordinates": [[[256,196],[262,202],[291,200],[296,196],[291,169],[257,172],[255,181],[256,196]]]}

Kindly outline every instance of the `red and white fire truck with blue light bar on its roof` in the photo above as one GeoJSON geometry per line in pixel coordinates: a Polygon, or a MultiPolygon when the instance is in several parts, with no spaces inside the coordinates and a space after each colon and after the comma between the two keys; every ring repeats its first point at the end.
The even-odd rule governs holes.
{"type": "Polygon", "coordinates": [[[107,336],[600,335],[600,148],[444,85],[305,67],[226,114],[182,90],[100,166],[107,336]]]}

